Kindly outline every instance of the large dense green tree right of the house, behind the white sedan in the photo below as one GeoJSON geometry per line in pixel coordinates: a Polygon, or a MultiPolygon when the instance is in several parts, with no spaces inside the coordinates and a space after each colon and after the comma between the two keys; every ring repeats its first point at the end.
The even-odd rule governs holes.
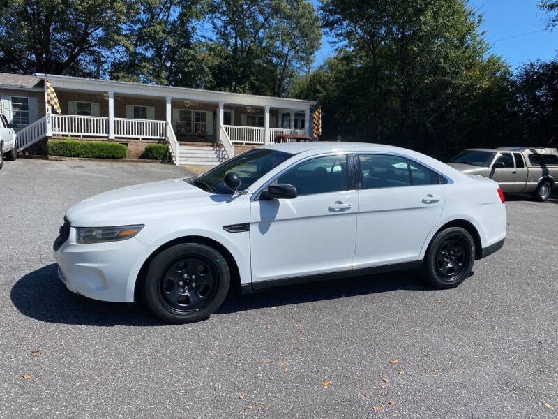
{"type": "MultiPolygon", "coordinates": [[[[499,138],[494,127],[507,120],[508,102],[496,98],[513,97],[509,70],[489,53],[482,17],[465,1],[324,0],[321,17],[338,45],[318,70],[338,83],[338,100],[320,101],[324,121],[339,118],[330,138],[343,133],[437,156],[499,138]]],[[[308,92],[310,82],[299,80],[293,93],[308,92]]]]}

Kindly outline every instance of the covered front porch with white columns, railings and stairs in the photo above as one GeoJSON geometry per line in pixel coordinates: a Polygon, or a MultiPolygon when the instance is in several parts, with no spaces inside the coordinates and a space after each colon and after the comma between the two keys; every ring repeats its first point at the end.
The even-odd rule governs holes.
{"type": "Polygon", "coordinates": [[[47,113],[18,133],[21,149],[38,135],[47,138],[165,140],[179,163],[179,148],[263,145],[277,135],[308,135],[310,104],[272,98],[141,83],[49,75],[61,115],[47,113]]]}

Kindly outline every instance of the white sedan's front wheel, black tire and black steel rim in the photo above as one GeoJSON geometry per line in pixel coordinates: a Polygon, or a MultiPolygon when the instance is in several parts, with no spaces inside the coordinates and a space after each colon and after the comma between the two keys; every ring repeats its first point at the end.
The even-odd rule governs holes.
{"type": "Polygon", "coordinates": [[[143,296],[163,321],[191,323],[216,311],[229,285],[229,266],[218,251],[205,244],[176,244],[149,263],[143,296]]]}

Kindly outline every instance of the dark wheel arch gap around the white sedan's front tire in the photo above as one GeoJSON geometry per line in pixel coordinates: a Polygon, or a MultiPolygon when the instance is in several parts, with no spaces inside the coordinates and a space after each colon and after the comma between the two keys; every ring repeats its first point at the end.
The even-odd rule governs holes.
{"type": "Polygon", "coordinates": [[[146,273],[149,269],[149,263],[151,260],[155,258],[159,253],[164,251],[165,249],[169,249],[169,247],[173,247],[176,244],[184,244],[184,243],[197,243],[197,244],[205,244],[206,246],[212,247],[219,253],[223,254],[225,260],[227,261],[227,265],[229,266],[230,274],[231,274],[231,288],[234,291],[238,291],[240,289],[240,271],[239,266],[234,260],[234,256],[232,253],[227,249],[227,247],[223,246],[217,240],[210,239],[209,237],[199,236],[199,235],[188,235],[183,237],[176,237],[165,244],[162,244],[160,247],[155,249],[147,258],[144,260],[142,267],[140,268],[140,272],[137,273],[135,286],[134,286],[134,300],[137,301],[138,296],[140,295],[140,287],[142,286],[143,282],[146,279],[146,273]]]}

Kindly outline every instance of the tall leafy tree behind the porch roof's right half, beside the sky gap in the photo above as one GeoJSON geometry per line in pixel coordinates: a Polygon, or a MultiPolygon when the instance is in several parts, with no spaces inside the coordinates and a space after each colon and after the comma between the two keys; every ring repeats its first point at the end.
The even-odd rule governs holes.
{"type": "Polygon", "coordinates": [[[282,96],[319,48],[319,20],[306,0],[219,0],[210,10],[213,89],[282,96]]]}

